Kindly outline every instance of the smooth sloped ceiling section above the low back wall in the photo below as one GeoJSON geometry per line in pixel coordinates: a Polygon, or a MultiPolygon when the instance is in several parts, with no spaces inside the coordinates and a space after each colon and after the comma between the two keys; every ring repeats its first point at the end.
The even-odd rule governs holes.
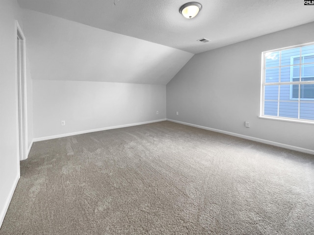
{"type": "Polygon", "coordinates": [[[29,10],[24,33],[32,79],[165,85],[193,56],[29,10]]]}

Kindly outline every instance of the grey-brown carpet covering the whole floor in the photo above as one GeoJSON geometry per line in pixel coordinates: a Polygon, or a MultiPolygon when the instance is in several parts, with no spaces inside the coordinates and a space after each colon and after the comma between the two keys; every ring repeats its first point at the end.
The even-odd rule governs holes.
{"type": "Polygon", "coordinates": [[[314,234],[314,156],[169,121],[35,142],[0,234],[314,234]]]}

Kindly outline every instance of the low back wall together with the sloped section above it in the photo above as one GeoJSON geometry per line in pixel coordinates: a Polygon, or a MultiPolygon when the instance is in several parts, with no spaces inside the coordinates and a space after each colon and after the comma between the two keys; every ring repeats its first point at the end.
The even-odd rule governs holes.
{"type": "Polygon", "coordinates": [[[23,12],[35,141],[166,118],[165,85],[193,54],[23,12]]]}

